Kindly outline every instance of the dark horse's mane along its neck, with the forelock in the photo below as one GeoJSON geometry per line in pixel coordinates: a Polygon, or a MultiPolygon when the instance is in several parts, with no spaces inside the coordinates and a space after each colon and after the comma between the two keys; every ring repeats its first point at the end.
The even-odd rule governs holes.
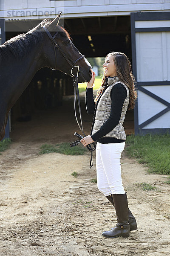
{"type": "MultiPolygon", "coordinates": [[[[17,59],[25,58],[26,55],[31,52],[31,49],[35,44],[40,45],[42,43],[44,33],[42,33],[41,28],[44,25],[49,25],[50,22],[49,19],[44,19],[40,24],[27,33],[17,35],[0,45],[0,60],[8,58],[11,54],[17,59]]],[[[67,30],[61,26],[59,26],[59,28],[61,28],[62,32],[71,39],[67,30]]]]}

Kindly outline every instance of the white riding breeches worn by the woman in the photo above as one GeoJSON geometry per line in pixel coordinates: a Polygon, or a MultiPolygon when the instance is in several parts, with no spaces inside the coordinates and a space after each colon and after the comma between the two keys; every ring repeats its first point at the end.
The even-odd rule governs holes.
{"type": "Polygon", "coordinates": [[[105,196],[125,194],[121,175],[121,153],[125,142],[96,145],[97,187],[105,196]]]}

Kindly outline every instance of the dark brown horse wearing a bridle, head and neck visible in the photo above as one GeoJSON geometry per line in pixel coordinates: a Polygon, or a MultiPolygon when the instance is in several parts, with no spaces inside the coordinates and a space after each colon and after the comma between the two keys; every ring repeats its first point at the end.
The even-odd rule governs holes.
{"type": "Polygon", "coordinates": [[[0,45],[0,140],[5,136],[10,109],[42,67],[74,76],[72,67],[78,65],[78,82],[91,79],[91,64],[59,26],[60,16],[52,21],[44,19],[27,33],[0,45]]]}

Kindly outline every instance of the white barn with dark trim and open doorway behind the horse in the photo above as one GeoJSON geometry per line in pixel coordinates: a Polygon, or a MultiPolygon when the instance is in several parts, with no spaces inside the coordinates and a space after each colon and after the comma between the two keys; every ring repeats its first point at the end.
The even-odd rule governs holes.
{"type": "MultiPolygon", "coordinates": [[[[169,131],[170,0],[0,0],[0,44],[59,12],[60,25],[85,57],[119,51],[130,59],[138,89],[135,134],[169,131]]],[[[35,108],[62,104],[63,95],[73,94],[71,83],[59,71],[39,70],[11,110],[6,137],[22,115],[29,119],[35,108]]]]}

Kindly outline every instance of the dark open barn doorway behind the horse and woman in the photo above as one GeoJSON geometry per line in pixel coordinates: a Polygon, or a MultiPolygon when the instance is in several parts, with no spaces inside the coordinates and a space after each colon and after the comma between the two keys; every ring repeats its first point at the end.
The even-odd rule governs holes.
{"type": "MultiPolygon", "coordinates": [[[[31,26],[37,26],[40,21],[33,20],[31,26]]],[[[17,26],[19,25],[17,24],[17,26]]],[[[70,33],[74,45],[86,58],[105,57],[108,52],[118,51],[124,52],[132,61],[130,16],[71,18],[64,20],[64,26],[70,33]]],[[[32,27],[28,28],[28,30],[32,27]]],[[[19,33],[6,32],[6,40],[19,33]]],[[[20,134],[23,134],[23,140],[24,134],[30,134],[30,138],[34,138],[34,129],[31,124],[33,126],[39,126],[40,124],[40,129],[42,129],[43,125],[45,127],[44,132],[42,132],[42,138],[45,138],[45,134],[49,136],[47,130],[50,130],[49,140],[52,140],[55,132],[59,132],[57,124],[59,124],[60,119],[67,127],[64,130],[66,134],[68,134],[69,122],[71,124],[75,123],[73,127],[76,129],[75,131],[79,132],[74,117],[72,84],[72,78],[59,71],[53,71],[48,68],[39,70],[11,109],[12,130],[10,137],[17,138],[17,134],[19,134],[17,131],[20,130],[20,134]],[[46,126],[47,119],[48,128],[46,126]],[[52,122],[54,119],[55,122],[52,122]],[[54,126],[57,127],[57,130],[50,127],[52,123],[53,125],[55,123],[54,126]],[[29,131],[26,131],[27,129],[29,131]]],[[[82,95],[81,99],[82,115],[85,123],[84,129],[85,133],[89,134],[92,116],[88,116],[86,113],[85,95],[82,95]]],[[[126,134],[134,133],[133,111],[127,112],[124,124],[126,134]]],[[[40,131],[37,129],[36,137],[39,135],[40,131]]]]}

